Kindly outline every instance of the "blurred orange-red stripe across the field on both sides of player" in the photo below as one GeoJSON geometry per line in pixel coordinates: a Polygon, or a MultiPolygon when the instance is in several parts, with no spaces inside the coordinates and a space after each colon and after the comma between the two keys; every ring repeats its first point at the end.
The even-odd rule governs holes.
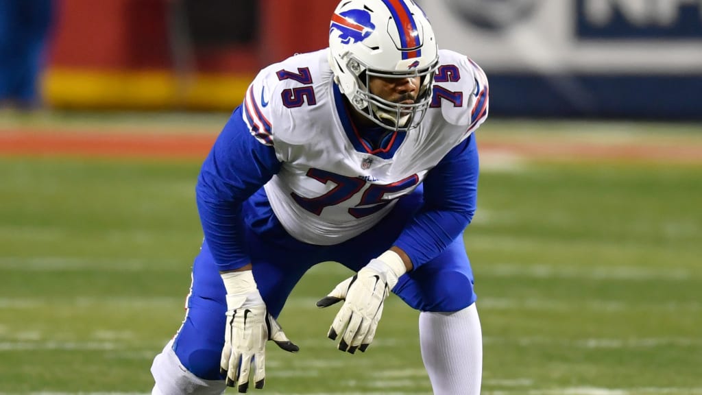
{"type": "MultiPolygon", "coordinates": [[[[0,154],[203,160],[215,138],[215,134],[168,134],[152,129],[143,133],[134,130],[128,134],[0,129],[0,154]]],[[[702,164],[702,145],[698,144],[505,143],[484,139],[478,145],[484,155],[512,155],[536,160],[603,159],[702,164]]]]}

